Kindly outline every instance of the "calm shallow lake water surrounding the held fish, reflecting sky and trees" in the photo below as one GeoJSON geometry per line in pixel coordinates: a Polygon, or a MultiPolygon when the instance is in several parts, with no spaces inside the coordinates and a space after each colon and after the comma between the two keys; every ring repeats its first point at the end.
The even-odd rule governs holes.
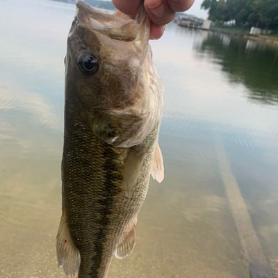
{"type": "MultiPolygon", "coordinates": [[[[74,6],[0,5],[0,276],[65,277],[55,237],[74,6]]],[[[108,277],[278,277],[278,49],[176,24],[151,44],[165,181],[151,182],[136,248],[108,277]]]]}

